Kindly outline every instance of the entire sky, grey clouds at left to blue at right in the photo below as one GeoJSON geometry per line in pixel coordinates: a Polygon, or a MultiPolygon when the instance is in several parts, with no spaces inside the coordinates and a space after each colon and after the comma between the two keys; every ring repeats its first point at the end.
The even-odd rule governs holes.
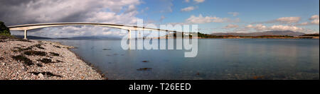
{"type": "MultiPolygon", "coordinates": [[[[0,0],[6,25],[28,23],[117,23],[198,25],[201,33],[292,30],[319,33],[319,0],[0,0]]],[[[18,33],[17,33],[18,34],[18,33]]],[[[49,37],[122,36],[117,29],[65,26],[32,30],[49,37]]]]}

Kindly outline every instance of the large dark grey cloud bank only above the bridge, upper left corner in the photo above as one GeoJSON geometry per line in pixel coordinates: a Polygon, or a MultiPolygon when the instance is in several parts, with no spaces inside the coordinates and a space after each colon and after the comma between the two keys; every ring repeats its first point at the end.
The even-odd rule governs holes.
{"type": "MultiPolygon", "coordinates": [[[[7,15],[0,18],[7,24],[23,23],[52,23],[52,22],[83,22],[93,18],[94,13],[114,13],[120,16],[120,10],[126,13],[135,12],[139,0],[58,0],[58,1],[26,1],[17,5],[1,5],[1,9],[8,10],[7,15]],[[108,11],[107,11],[108,10],[108,11]]],[[[126,15],[123,15],[126,16],[126,15]]],[[[99,16],[95,16],[99,17],[99,16]]],[[[135,18],[132,16],[132,18],[135,18]]]]}

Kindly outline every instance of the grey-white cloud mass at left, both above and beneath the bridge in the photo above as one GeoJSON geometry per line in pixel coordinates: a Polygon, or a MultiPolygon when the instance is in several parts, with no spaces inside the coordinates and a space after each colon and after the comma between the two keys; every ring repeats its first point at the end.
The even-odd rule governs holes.
{"type": "MultiPolygon", "coordinates": [[[[136,6],[141,2],[139,0],[57,0],[19,1],[17,3],[21,4],[9,3],[16,5],[4,4],[0,6],[0,11],[8,10],[6,15],[0,14],[1,20],[4,19],[6,24],[89,22],[134,25],[138,19],[136,6]]],[[[50,28],[50,30],[42,29],[35,32],[34,35],[60,35],[61,37],[66,37],[65,35],[105,35],[109,33],[109,30],[110,28],[71,26],[50,28]],[[69,31],[75,32],[75,30],[81,31],[69,33],[69,31]]]]}

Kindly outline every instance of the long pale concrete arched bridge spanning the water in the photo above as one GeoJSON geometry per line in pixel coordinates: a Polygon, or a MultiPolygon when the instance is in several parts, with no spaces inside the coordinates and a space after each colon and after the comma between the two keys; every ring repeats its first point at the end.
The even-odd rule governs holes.
{"type": "Polygon", "coordinates": [[[146,30],[146,31],[164,31],[169,33],[177,33],[174,30],[161,30],[156,28],[145,28],[132,25],[119,25],[119,24],[107,24],[107,23],[36,23],[36,24],[26,24],[26,25],[12,25],[8,26],[10,30],[24,30],[24,39],[27,40],[28,30],[38,29],[38,28],[48,28],[56,26],[71,26],[71,25],[90,25],[90,26],[102,26],[107,28],[117,28],[122,30],[127,30],[129,33],[129,38],[131,37],[132,30],[146,30]]]}

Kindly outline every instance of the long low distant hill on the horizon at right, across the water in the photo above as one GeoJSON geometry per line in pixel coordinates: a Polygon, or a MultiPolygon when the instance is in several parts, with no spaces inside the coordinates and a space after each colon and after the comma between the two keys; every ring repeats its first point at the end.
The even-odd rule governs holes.
{"type": "Polygon", "coordinates": [[[299,35],[305,35],[305,33],[294,32],[291,30],[285,30],[285,31],[266,31],[266,32],[260,32],[260,33],[213,33],[210,35],[233,35],[233,36],[289,35],[289,36],[299,36],[299,35]]]}

